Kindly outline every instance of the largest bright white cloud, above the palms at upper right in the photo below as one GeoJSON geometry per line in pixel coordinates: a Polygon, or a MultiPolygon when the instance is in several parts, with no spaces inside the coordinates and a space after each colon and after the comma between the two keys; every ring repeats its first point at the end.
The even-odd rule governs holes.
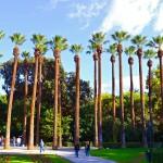
{"type": "Polygon", "coordinates": [[[120,27],[131,34],[141,33],[156,15],[159,2],[160,0],[112,0],[100,29],[109,32],[120,27]]]}

